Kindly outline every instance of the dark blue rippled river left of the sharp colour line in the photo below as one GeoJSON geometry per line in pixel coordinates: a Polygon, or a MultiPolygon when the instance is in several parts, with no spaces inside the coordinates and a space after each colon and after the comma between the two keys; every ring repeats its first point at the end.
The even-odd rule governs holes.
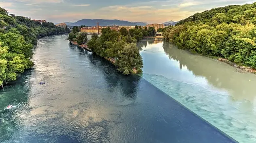
{"type": "Polygon", "coordinates": [[[69,45],[66,36],[40,39],[34,68],[0,92],[0,110],[17,106],[0,112],[0,142],[235,142],[145,79],[69,45]]]}

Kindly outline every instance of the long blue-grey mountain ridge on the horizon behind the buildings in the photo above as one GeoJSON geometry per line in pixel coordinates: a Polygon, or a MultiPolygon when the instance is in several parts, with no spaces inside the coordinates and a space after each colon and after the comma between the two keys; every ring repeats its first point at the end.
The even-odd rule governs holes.
{"type": "Polygon", "coordinates": [[[99,23],[100,26],[108,26],[108,25],[122,25],[122,26],[145,26],[147,23],[143,22],[129,22],[129,21],[121,21],[117,19],[81,19],[75,23],[66,23],[66,25],[70,26],[96,26],[99,23]]]}

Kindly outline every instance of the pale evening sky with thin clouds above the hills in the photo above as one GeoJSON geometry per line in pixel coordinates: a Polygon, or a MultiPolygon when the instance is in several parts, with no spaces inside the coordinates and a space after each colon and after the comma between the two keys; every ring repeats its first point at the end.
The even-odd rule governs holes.
{"type": "Polygon", "coordinates": [[[9,13],[53,23],[80,19],[119,19],[131,22],[179,21],[196,12],[253,0],[1,0],[9,13]]]}

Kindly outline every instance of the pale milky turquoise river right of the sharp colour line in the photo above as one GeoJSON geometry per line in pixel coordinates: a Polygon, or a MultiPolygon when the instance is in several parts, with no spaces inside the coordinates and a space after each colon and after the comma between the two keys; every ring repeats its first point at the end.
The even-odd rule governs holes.
{"type": "Polygon", "coordinates": [[[237,141],[256,142],[256,75],[167,42],[138,47],[144,79],[237,141]]]}

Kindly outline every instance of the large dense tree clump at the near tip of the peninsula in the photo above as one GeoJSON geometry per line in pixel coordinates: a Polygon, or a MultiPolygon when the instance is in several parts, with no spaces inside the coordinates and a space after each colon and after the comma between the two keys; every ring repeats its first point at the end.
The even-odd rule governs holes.
{"type": "Polygon", "coordinates": [[[132,73],[133,68],[141,73],[143,62],[136,46],[137,40],[127,35],[127,32],[122,35],[121,32],[113,31],[109,27],[103,28],[101,32],[100,37],[92,36],[87,43],[88,48],[102,57],[114,58],[117,70],[124,75],[132,73]]]}

